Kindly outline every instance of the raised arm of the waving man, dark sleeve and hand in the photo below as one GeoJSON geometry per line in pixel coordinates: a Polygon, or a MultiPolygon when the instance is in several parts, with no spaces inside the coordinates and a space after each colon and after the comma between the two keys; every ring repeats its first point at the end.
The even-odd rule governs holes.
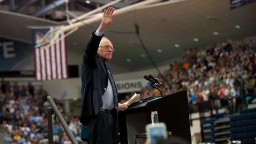
{"type": "Polygon", "coordinates": [[[103,17],[101,19],[101,23],[97,31],[93,32],[89,43],[85,49],[85,53],[87,58],[94,59],[97,54],[99,44],[102,38],[102,34],[106,27],[113,21],[115,9],[113,7],[108,7],[103,12],[103,17]]]}

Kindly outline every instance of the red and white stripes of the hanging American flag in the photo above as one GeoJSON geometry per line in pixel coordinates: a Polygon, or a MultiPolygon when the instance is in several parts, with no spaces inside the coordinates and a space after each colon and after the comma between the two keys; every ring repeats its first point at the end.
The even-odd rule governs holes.
{"type": "MultiPolygon", "coordinates": [[[[53,30],[51,28],[50,30],[53,30]]],[[[68,77],[67,49],[65,34],[49,49],[35,49],[35,77],[37,80],[62,79],[68,77]]]]}

